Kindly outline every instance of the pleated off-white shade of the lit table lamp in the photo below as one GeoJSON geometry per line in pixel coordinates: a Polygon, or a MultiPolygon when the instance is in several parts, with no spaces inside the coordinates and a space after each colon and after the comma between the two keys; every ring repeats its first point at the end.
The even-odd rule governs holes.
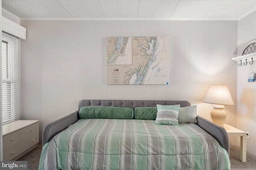
{"type": "Polygon", "coordinates": [[[234,104],[230,92],[228,90],[228,86],[225,85],[210,85],[204,96],[203,102],[221,105],[234,104]]]}

